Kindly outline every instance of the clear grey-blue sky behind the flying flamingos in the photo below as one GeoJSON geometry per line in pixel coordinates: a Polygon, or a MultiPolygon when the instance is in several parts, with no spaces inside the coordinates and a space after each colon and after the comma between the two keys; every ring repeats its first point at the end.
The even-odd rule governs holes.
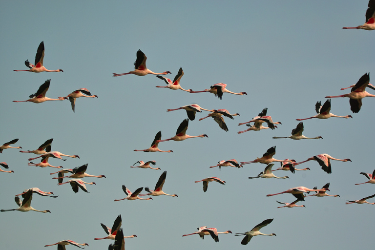
{"type": "MultiPolygon", "coordinates": [[[[31,205],[51,213],[19,211],[0,213],[0,249],[42,250],[46,244],[64,239],[88,243],[88,250],[107,249],[110,240],[100,226],[112,227],[121,214],[126,249],[353,249],[369,246],[373,239],[373,205],[345,205],[375,193],[375,186],[360,172],[372,173],[375,123],[373,98],[363,100],[359,113],[350,110],[348,98],[332,100],[331,112],[353,119],[312,119],[304,122],[304,135],[323,140],[272,139],[289,136],[295,119],[315,115],[315,103],[327,95],[349,93],[340,88],[354,84],[370,72],[374,83],[375,32],[344,30],[365,21],[368,0],[332,1],[2,1],[0,3],[0,144],[19,138],[13,146],[33,150],[53,138],[53,151],[80,156],[65,162],[50,159],[54,166],[74,168],[88,164],[89,193],[74,193],[70,185],[57,185],[49,173],[55,168],[27,166],[34,154],[5,149],[0,162],[15,173],[0,172],[0,208],[17,208],[14,195],[26,188],[53,191],[58,198],[34,195],[31,205]],[[44,66],[63,73],[14,72],[27,69],[24,60],[34,62],[44,41],[44,66]],[[147,56],[154,72],[180,67],[181,85],[195,91],[214,83],[227,83],[237,96],[224,93],[219,100],[211,93],[190,94],[181,90],[155,88],[165,83],[154,75],[112,77],[112,73],[133,70],[136,52],[147,56]],[[57,98],[87,88],[99,98],[79,98],[73,113],[69,101],[42,104],[13,103],[26,100],[51,79],[47,97],[57,98]],[[146,149],[155,134],[172,137],[187,118],[185,110],[166,112],[187,104],[207,109],[228,109],[241,116],[225,119],[225,132],[212,119],[189,122],[187,134],[207,134],[183,142],[163,142],[162,150],[174,153],[134,152],[146,149]],[[249,121],[263,108],[275,130],[249,131],[238,123],[249,121]],[[332,174],[315,161],[298,167],[311,171],[274,172],[290,179],[248,179],[266,165],[243,168],[214,166],[218,161],[251,161],[276,146],[276,159],[306,160],[317,154],[352,162],[332,162],[332,174]],[[162,170],[130,168],[137,161],[156,161],[162,170]],[[163,171],[163,190],[177,197],[158,196],[152,201],[119,201],[125,185],[153,189],[163,171]],[[227,183],[194,181],[216,176],[227,183]],[[330,194],[341,197],[307,197],[306,208],[277,208],[292,202],[290,194],[266,197],[291,187],[323,187],[331,183],[330,194]],[[261,231],[277,237],[258,236],[241,245],[236,232],[245,232],[265,219],[273,222],[261,231]],[[219,235],[219,243],[206,236],[181,237],[208,226],[233,234],[219,235]]],[[[370,93],[373,90],[368,89],[370,93]]],[[[35,160],[34,162],[39,162],[35,160]]],[[[275,164],[274,167],[278,167],[275,164]]],[[[2,168],[3,169],[3,168],[2,168]]],[[[374,202],[375,199],[369,200],[374,202]]],[[[56,246],[49,247],[56,249],[56,246]]],[[[68,246],[74,249],[73,246],[68,246]]]]}

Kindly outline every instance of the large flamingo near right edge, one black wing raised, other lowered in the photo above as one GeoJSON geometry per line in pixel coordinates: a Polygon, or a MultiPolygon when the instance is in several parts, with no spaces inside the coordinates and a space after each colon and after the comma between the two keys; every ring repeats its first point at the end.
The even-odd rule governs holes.
{"type": "Polygon", "coordinates": [[[366,73],[358,80],[358,82],[355,84],[355,86],[352,88],[352,91],[349,94],[339,96],[326,96],[325,98],[349,97],[350,109],[353,113],[358,113],[362,106],[362,98],[375,97],[375,95],[372,95],[365,90],[369,82],[370,73],[366,73]]]}

